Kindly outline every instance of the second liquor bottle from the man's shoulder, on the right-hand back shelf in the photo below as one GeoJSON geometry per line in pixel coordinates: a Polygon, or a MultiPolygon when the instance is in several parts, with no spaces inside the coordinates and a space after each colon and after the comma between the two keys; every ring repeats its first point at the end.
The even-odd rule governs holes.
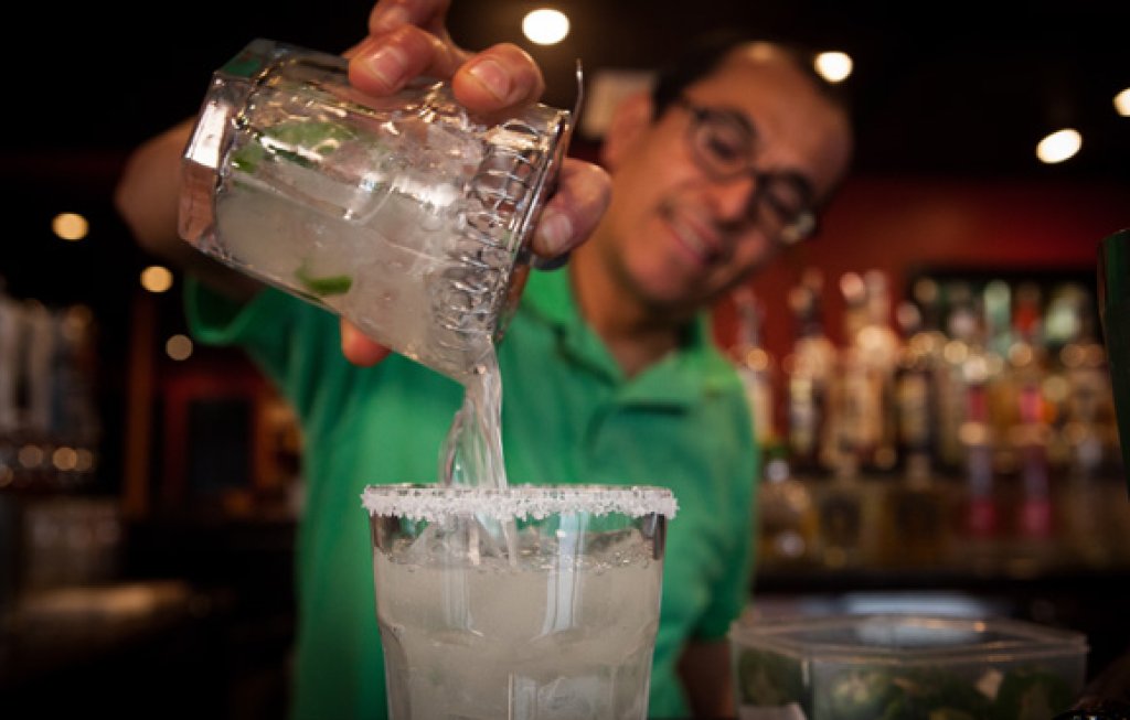
{"type": "Polygon", "coordinates": [[[834,458],[827,450],[836,346],[824,331],[823,273],[807,269],[789,293],[794,336],[785,358],[788,446],[793,472],[825,476],[834,458]]]}

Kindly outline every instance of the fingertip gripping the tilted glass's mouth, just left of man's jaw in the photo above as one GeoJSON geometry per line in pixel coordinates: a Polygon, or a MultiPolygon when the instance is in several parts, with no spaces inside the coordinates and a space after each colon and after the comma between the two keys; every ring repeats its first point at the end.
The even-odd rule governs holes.
{"type": "Polygon", "coordinates": [[[570,252],[592,234],[609,200],[611,179],[603,168],[566,158],[557,192],[541,211],[530,248],[542,257],[570,252]]]}

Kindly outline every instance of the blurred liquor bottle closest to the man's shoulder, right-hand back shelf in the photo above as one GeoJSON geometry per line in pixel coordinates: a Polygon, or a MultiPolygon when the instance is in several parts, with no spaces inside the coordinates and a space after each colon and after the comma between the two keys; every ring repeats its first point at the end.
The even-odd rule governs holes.
{"type": "Polygon", "coordinates": [[[773,358],[762,342],[764,308],[748,287],[733,292],[738,311],[738,336],[731,349],[732,361],[746,387],[746,398],[754,421],[754,441],[767,448],[776,439],[773,422],[773,358]]]}

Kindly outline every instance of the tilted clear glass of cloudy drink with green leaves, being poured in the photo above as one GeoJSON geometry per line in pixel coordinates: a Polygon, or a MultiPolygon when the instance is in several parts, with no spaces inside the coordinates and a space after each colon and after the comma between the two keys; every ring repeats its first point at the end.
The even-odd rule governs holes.
{"type": "Polygon", "coordinates": [[[214,74],[181,235],[462,380],[505,326],[571,113],[468,115],[445,82],[384,98],[346,60],[257,39],[214,74]]]}

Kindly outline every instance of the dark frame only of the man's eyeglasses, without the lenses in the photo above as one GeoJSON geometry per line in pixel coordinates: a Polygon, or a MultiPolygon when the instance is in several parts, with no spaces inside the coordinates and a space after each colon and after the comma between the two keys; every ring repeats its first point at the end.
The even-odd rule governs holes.
{"type": "MultiPolygon", "coordinates": [[[[773,212],[777,213],[777,216],[783,219],[781,229],[777,231],[777,236],[775,238],[777,242],[782,245],[791,246],[816,235],[819,228],[819,219],[815,203],[810,199],[812,191],[807,179],[797,177],[792,174],[762,170],[757,167],[751,156],[747,156],[742,166],[733,172],[720,173],[715,163],[702,157],[704,148],[703,143],[696,140],[696,133],[701,132],[701,129],[705,123],[714,120],[724,118],[727,122],[737,122],[738,124],[745,125],[750,139],[756,141],[757,131],[750,125],[749,120],[744,114],[734,109],[705,107],[694,103],[685,96],[676,98],[673,104],[690,113],[693,122],[687,126],[687,144],[690,146],[695,161],[704,173],[706,173],[712,179],[723,183],[738,179],[744,175],[748,175],[754,178],[754,196],[750,199],[750,208],[759,210],[762,205],[767,204],[773,212]],[[793,184],[799,181],[802,184],[800,187],[801,192],[809,195],[809,200],[806,201],[806,207],[793,214],[791,219],[788,219],[786,216],[792,213],[782,209],[780,204],[776,203],[775,197],[768,192],[773,184],[779,181],[793,184]]],[[[751,142],[750,144],[754,143],[751,142]]],[[[756,217],[754,218],[754,221],[756,221],[756,217]]]]}

